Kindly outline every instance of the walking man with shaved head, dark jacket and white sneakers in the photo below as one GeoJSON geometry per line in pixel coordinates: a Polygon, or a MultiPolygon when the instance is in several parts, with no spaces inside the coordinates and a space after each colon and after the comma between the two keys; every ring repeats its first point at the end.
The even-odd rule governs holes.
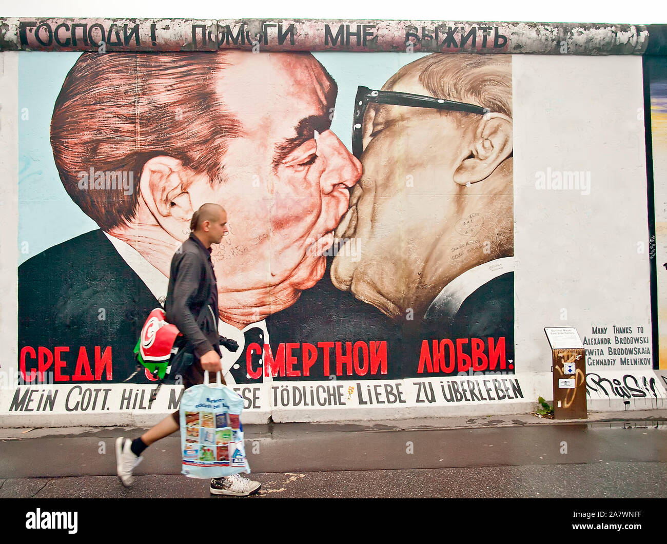
{"type": "MultiPolygon", "coordinates": [[[[187,340],[183,348],[192,352],[194,362],[184,372],[183,386],[189,388],[203,383],[204,372],[209,381],[215,381],[220,372],[221,352],[217,331],[217,284],[211,264],[211,244],[219,244],[229,232],[227,214],[218,204],[203,204],[190,222],[189,238],[174,254],[169,271],[169,287],[165,300],[167,322],[175,324],[187,340]]],[[[224,383],[224,378],[223,378],[224,383]]],[[[141,453],[155,441],[171,435],[179,429],[179,413],[176,411],[163,419],[141,437],[116,440],[116,469],[126,487],[133,483],[132,471],[141,462],[141,453]]],[[[211,479],[213,495],[250,495],[261,484],[238,474],[211,479]]]]}

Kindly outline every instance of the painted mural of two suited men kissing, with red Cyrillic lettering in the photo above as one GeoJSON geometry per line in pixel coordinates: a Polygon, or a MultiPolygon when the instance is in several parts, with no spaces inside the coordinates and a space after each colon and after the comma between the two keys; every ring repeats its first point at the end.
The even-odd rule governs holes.
{"type": "Polygon", "coordinates": [[[19,266],[21,372],[130,376],[205,202],[231,231],[212,255],[228,383],[514,372],[511,57],[348,57],[373,55],[402,55],[382,89],[309,53],[78,57],[50,142],[99,228],[19,266]]]}

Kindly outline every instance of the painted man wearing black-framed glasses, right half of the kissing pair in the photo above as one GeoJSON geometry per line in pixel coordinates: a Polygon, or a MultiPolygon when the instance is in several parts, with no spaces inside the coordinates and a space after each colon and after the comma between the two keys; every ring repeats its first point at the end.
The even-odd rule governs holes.
{"type": "Polygon", "coordinates": [[[333,284],[420,336],[511,335],[511,57],[422,57],[355,112],[364,174],[336,234],[362,252],[336,256],[333,284]]]}

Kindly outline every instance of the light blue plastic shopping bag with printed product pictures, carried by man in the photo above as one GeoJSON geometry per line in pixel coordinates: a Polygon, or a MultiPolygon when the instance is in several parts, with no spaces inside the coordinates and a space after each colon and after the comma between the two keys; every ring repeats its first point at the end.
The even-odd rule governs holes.
{"type": "Polygon", "coordinates": [[[243,399],[222,384],[204,382],[183,392],[179,409],[181,419],[181,474],[190,478],[221,478],[249,473],[243,447],[241,411],[243,399]]]}

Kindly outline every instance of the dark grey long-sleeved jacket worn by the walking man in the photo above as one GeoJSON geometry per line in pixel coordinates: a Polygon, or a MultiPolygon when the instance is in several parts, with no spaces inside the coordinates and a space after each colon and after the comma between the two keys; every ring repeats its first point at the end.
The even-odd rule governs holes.
{"type": "Polygon", "coordinates": [[[171,258],[165,314],[167,322],[185,336],[185,350],[198,358],[210,350],[219,352],[217,282],[211,252],[194,234],[171,258]]]}

